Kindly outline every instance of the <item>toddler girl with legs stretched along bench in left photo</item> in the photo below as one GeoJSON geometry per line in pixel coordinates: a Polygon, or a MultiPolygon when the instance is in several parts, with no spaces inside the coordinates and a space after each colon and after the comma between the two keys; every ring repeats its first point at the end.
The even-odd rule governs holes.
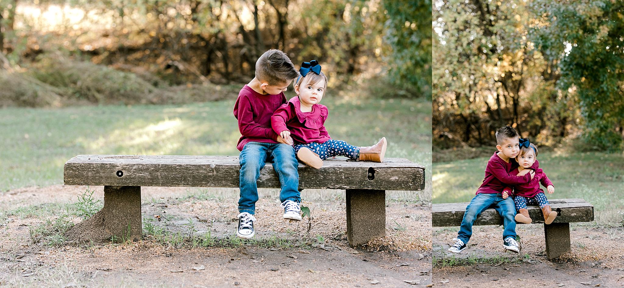
{"type": "Polygon", "coordinates": [[[324,159],[333,156],[383,162],[386,137],[369,147],[356,147],[329,137],[324,126],[328,109],[318,104],[327,89],[327,77],[316,60],[303,62],[299,72],[300,76],[293,84],[297,96],[278,108],[271,117],[273,131],[295,143],[297,158],[316,169],[323,167],[324,159]]]}

